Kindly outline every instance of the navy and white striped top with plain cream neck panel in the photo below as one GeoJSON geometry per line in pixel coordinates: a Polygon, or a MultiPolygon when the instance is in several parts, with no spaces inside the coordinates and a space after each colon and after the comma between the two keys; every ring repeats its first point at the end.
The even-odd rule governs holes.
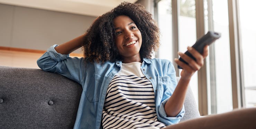
{"type": "Polygon", "coordinates": [[[121,71],[109,84],[102,113],[103,129],[159,129],[155,95],[143,75],[140,62],[122,63],[121,71]]]}

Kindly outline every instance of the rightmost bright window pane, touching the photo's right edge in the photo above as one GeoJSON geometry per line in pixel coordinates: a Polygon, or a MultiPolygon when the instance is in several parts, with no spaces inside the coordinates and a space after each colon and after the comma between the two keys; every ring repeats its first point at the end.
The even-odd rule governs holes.
{"type": "Polygon", "coordinates": [[[240,36],[244,70],[245,107],[256,107],[256,1],[239,1],[240,36]]]}

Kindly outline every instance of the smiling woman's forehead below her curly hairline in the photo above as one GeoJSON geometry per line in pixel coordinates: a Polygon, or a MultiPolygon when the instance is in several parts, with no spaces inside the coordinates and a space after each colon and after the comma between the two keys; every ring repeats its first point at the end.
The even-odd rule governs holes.
{"type": "Polygon", "coordinates": [[[131,20],[128,16],[125,16],[125,15],[117,16],[114,19],[115,27],[123,26],[123,25],[129,25],[131,23],[134,23],[134,21],[131,20]]]}

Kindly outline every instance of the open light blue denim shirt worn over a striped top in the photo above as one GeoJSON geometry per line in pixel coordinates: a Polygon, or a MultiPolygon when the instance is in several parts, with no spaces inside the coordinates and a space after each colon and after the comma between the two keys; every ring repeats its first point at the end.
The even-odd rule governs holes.
{"type": "MultiPolygon", "coordinates": [[[[112,78],[121,71],[122,62],[86,62],[84,58],[71,58],[56,52],[56,46],[50,47],[37,60],[39,68],[61,74],[82,85],[74,129],[102,128],[101,116],[106,91],[112,78]]],[[[185,113],[184,105],[176,117],[167,117],[164,110],[166,101],[177,86],[173,64],[168,60],[144,58],[141,71],[153,85],[158,121],[165,125],[178,123],[185,113]]]]}

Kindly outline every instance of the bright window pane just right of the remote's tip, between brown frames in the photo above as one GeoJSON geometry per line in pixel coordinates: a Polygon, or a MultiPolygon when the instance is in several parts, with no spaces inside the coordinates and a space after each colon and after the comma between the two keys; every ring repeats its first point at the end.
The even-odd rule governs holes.
{"type": "MultiPolygon", "coordinates": [[[[212,0],[213,30],[221,33],[221,38],[214,45],[216,106],[212,113],[231,111],[232,88],[229,48],[228,2],[212,0]]],[[[213,80],[214,81],[214,80],[213,80]]],[[[212,90],[212,89],[211,89],[212,90]]]]}

